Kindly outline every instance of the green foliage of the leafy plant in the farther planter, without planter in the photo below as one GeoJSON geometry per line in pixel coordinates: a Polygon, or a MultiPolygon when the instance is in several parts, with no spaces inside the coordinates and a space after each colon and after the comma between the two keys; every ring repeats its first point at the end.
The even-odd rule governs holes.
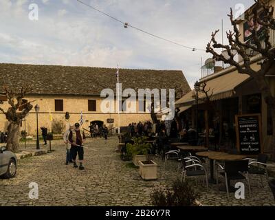
{"type": "Polygon", "coordinates": [[[152,150],[152,145],[146,143],[148,137],[135,137],[134,144],[126,144],[126,152],[128,157],[133,155],[148,155],[152,150]]]}

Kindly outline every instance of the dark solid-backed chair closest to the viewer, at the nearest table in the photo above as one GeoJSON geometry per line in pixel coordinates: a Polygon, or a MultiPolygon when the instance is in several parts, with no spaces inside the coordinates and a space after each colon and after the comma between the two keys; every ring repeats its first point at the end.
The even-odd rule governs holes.
{"type": "MultiPolygon", "coordinates": [[[[229,186],[230,180],[238,180],[238,179],[246,179],[248,181],[248,188],[251,196],[251,189],[250,189],[250,176],[248,173],[248,160],[239,160],[239,161],[225,161],[224,167],[221,164],[217,164],[219,168],[223,170],[223,172],[219,173],[223,177],[225,177],[225,185],[226,191],[228,193],[229,199],[229,186]],[[246,177],[242,174],[246,173],[246,177]]],[[[218,178],[217,178],[218,184],[218,178]]]]}

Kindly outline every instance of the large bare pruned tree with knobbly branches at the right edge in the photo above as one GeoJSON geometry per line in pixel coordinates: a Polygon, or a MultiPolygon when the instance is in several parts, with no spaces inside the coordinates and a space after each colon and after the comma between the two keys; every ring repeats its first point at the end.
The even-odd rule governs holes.
{"type": "Polygon", "coordinates": [[[270,1],[255,0],[255,2],[256,4],[254,7],[245,13],[245,20],[250,24],[253,43],[249,41],[244,43],[241,41],[238,22],[234,19],[231,8],[228,17],[230,17],[234,31],[230,30],[226,32],[229,44],[223,45],[217,42],[216,35],[219,30],[216,30],[212,32],[212,38],[206,47],[206,52],[212,54],[216,61],[223,61],[224,63],[236,67],[239,74],[248,74],[254,78],[267,107],[270,109],[273,127],[270,145],[272,146],[272,157],[275,159],[275,98],[272,96],[271,87],[266,80],[267,74],[275,76],[275,73],[271,72],[274,66],[275,53],[270,43],[270,32],[271,30],[275,30],[274,7],[270,5],[270,1]],[[259,25],[261,25],[261,31],[264,33],[263,35],[260,35],[259,25]],[[225,50],[227,54],[219,53],[217,49],[225,50]],[[254,50],[254,52],[261,55],[262,61],[258,63],[258,65],[261,65],[259,70],[252,69],[252,63],[254,62],[248,50],[254,50]],[[243,58],[242,63],[234,60],[236,53],[243,58]]]}

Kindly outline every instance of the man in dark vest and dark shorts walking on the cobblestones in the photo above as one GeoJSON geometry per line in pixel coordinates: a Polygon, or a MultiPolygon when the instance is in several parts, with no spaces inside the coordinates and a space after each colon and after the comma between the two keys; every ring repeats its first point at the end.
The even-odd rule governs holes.
{"type": "Polygon", "coordinates": [[[84,170],[83,159],[84,159],[84,149],[83,143],[85,142],[85,133],[81,135],[80,124],[74,124],[74,130],[69,133],[69,142],[71,145],[72,159],[74,162],[74,168],[78,168],[76,164],[76,156],[78,155],[79,169],[84,170]]]}

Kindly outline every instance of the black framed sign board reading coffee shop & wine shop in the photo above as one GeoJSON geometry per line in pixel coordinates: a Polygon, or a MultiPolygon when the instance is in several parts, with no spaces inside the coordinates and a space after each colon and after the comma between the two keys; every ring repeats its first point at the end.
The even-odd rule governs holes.
{"type": "Polygon", "coordinates": [[[236,144],[243,155],[262,153],[261,115],[236,115],[236,144]]]}

